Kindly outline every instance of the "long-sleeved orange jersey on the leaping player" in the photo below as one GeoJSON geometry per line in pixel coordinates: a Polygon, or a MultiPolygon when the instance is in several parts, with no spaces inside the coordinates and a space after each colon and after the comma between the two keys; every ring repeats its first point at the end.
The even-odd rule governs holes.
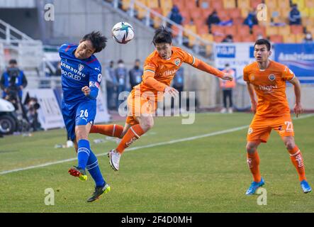
{"type": "Polygon", "coordinates": [[[176,71],[179,70],[183,62],[200,70],[206,70],[206,72],[215,74],[218,77],[223,75],[223,72],[208,65],[204,69],[204,64],[201,60],[198,60],[185,50],[173,46],[172,56],[168,60],[162,59],[156,50],[146,58],[142,82],[134,87],[135,91],[140,93],[152,92],[156,97],[157,92],[164,92],[164,89],[171,84],[176,71]]]}

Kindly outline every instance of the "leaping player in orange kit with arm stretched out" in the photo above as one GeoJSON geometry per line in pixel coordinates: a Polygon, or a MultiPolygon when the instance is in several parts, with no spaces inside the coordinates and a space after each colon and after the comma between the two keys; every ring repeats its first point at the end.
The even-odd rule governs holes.
{"type": "Polygon", "coordinates": [[[119,170],[120,157],[125,148],[154,125],[152,114],[155,113],[157,101],[162,100],[164,94],[178,94],[178,91],[169,85],[183,62],[221,79],[232,80],[232,75],[225,74],[185,50],[174,47],[171,33],[163,27],[155,31],[152,43],[155,45],[155,51],[145,60],[142,82],[135,86],[128,96],[128,109],[131,114],[126,118],[124,128],[118,125],[96,125],[91,128],[91,133],[122,138],[118,147],[108,153],[111,167],[116,171],[119,170]]]}

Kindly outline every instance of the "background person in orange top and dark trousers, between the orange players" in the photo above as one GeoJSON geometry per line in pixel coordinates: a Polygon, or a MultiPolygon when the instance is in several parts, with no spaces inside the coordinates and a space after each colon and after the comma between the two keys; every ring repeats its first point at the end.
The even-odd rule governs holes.
{"type": "MultiPolygon", "coordinates": [[[[225,64],[225,69],[223,72],[232,74],[232,77],[235,77],[235,71],[232,70],[230,65],[227,63],[225,64]]],[[[219,79],[220,88],[223,90],[223,109],[221,109],[221,113],[226,113],[228,110],[229,114],[232,114],[232,90],[235,88],[235,79],[232,81],[226,81],[223,79],[219,79]],[[227,107],[227,99],[229,99],[229,107],[227,107]]]]}

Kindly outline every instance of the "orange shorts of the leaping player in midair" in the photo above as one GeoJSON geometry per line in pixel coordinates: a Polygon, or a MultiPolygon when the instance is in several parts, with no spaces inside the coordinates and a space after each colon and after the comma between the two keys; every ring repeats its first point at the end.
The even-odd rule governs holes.
{"type": "Polygon", "coordinates": [[[140,94],[133,89],[128,96],[128,117],[125,123],[131,126],[138,124],[136,117],[155,114],[157,108],[157,100],[155,101],[155,95],[153,93],[140,94]]]}

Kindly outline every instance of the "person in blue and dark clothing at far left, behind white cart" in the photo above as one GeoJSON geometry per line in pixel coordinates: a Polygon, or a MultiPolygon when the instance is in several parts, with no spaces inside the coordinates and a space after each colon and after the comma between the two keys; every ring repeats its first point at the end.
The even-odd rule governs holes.
{"type": "Polygon", "coordinates": [[[22,90],[27,86],[27,79],[24,72],[18,69],[18,62],[15,59],[9,61],[9,67],[2,74],[0,87],[4,91],[2,97],[10,101],[16,101],[17,97],[21,101],[22,90]],[[14,99],[14,100],[12,100],[14,99]]]}

